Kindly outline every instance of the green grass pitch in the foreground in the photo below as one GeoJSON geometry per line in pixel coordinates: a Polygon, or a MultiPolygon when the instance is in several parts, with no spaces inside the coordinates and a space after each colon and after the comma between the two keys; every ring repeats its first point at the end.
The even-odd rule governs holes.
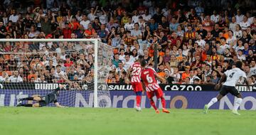
{"type": "Polygon", "coordinates": [[[154,109],[17,108],[0,107],[1,135],[41,134],[255,134],[256,112],[230,110],[171,109],[155,114],[154,109]]]}

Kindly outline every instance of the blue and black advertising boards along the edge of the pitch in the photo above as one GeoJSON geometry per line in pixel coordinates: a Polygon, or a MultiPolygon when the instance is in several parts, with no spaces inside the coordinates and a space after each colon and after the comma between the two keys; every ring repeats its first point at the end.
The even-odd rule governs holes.
{"type": "MultiPolygon", "coordinates": [[[[28,97],[32,95],[46,95],[54,89],[56,84],[29,84],[28,89],[6,89],[16,87],[18,84],[1,84],[0,85],[0,106],[15,106],[17,99],[20,97],[28,97]],[[10,86],[12,85],[12,86],[10,86]],[[46,87],[47,86],[47,87],[46,87]],[[6,87],[6,88],[5,88],[6,87]],[[40,88],[41,87],[41,88],[40,88]],[[44,88],[44,90],[43,90],[44,88]]],[[[82,86],[84,88],[85,85],[82,86]]],[[[24,86],[24,85],[23,85],[24,86]]],[[[166,98],[166,107],[171,109],[202,109],[204,104],[215,97],[218,92],[213,91],[213,85],[161,85],[166,98]]],[[[250,91],[245,91],[245,86],[238,86],[238,90],[243,91],[243,101],[240,109],[256,109],[256,92],[255,87],[251,87],[250,91]]],[[[19,87],[20,88],[20,87],[19,87]]],[[[134,108],[135,95],[130,85],[109,85],[110,98],[107,96],[98,97],[99,102],[107,102],[110,107],[114,108],[134,108]],[[111,100],[110,100],[111,99],[111,100]]],[[[214,104],[212,109],[233,109],[235,97],[232,95],[225,96],[220,102],[214,104]]],[[[31,101],[32,102],[32,101],[31,101]]],[[[88,90],[66,90],[60,92],[58,102],[70,107],[92,107],[93,93],[88,90]],[[85,99],[85,96],[89,98],[85,99]]],[[[53,104],[50,104],[53,106],[53,104]]],[[[161,107],[159,100],[156,102],[157,107],[161,107]]],[[[142,107],[149,108],[150,103],[145,95],[142,96],[142,107]]]]}

